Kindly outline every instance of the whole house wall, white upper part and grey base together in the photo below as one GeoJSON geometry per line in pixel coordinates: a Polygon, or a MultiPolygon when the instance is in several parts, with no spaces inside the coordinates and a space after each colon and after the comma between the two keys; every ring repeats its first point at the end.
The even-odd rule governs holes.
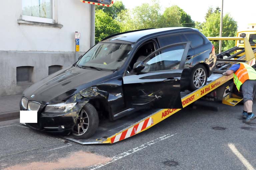
{"type": "Polygon", "coordinates": [[[79,0],[55,0],[55,22],[63,27],[19,24],[22,0],[0,1],[0,96],[21,94],[48,76],[48,67],[73,64],[90,48],[89,4],[79,0]],[[74,32],[81,33],[75,54],[74,32]],[[31,83],[16,82],[16,67],[32,66],[31,83]]]}

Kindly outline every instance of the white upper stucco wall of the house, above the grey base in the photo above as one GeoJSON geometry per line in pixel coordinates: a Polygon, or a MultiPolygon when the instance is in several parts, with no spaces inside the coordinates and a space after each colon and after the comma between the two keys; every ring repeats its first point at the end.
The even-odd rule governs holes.
{"type": "Polygon", "coordinates": [[[56,21],[62,28],[19,25],[22,0],[0,1],[0,50],[75,51],[74,32],[81,33],[80,51],[90,47],[90,5],[80,0],[55,0],[56,21]]]}

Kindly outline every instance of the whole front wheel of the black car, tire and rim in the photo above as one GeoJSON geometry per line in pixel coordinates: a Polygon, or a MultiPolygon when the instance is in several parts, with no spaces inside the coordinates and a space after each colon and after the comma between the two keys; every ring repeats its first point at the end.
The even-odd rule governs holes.
{"type": "Polygon", "coordinates": [[[97,110],[90,103],[86,103],[81,109],[76,125],[72,128],[73,137],[76,139],[86,139],[91,137],[99,125],[97,110]]]}

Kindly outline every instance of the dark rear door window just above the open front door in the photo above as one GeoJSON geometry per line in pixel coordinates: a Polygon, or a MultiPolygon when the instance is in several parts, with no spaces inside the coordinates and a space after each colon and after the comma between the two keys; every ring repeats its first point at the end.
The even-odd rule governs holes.
{"type": "Polygon", "coordinates": [[[186,39],[183,35],[173,35],[173,36],[165,36],[158,38],[160,47],[164,47],[166,45],[171,45],[174,43],[186,42],[186,39]]]}

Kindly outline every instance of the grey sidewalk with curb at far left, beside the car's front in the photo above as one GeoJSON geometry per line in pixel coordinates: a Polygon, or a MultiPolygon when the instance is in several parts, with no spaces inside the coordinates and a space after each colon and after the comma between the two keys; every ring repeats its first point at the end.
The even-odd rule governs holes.
{"type": "Polygon", "coordinates": [[[0,97],[0,121],[19,118],[20,99],[21,95],[0,97]]]}

